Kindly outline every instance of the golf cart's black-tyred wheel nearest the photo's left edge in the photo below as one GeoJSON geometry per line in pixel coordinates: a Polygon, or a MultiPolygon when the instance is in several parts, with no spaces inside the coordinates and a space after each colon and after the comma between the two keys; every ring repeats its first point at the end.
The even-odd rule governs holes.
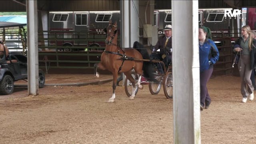
{"type": "Polygon", "coordinates": [[[12,94],[14,90],[14,81],[10,75],[4,75],[0,82],[0,94],[12,94]]]}

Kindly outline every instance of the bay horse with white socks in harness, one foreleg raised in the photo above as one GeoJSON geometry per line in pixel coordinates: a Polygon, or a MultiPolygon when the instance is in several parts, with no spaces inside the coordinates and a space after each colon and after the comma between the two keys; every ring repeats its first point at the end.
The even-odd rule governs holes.
{"type": "Polygon", "coordinates": [[[124,48],[121,49],[117,45],[117,22],[112,23],[111,20],[107,28],[104,29],[106,32],[106,48],[104,52],[101,54],[101,62],[98,64],[94,64],[94,75],[99,77],[99,73],[97,72],[97,68],[101,70],[108,70],[113,74],[113,94],[112,97],[108,100],[108,102],[114,102],[116,97],[115,90],[117,84],[117,77],[119,72],[123,72],[128,80],[132,82],[133,89],[132,95],[130,96],[130,100],[134,99],[135,96],[135,86],[136,80],[132,77],[132,69],[134,69],[136,74],[139,74],[138,78],[138,88],[142,89],[143,86],[140,84],[141,76],[143,73],[142,66],[143,66],[143,59],[140,52],[134,48],[124,48]],[[129,59],[128,59],[129,58],[129,59]],[[133,58],[137,60],[133,60],[133,58]],[[141,59],[141,60],[138,60],[141,59]]]}

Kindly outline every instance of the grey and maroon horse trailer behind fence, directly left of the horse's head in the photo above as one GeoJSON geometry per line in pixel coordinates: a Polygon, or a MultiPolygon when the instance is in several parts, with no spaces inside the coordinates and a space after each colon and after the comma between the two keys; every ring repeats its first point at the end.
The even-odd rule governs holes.
{"type": "MultiPolygon", "coordinates": [[[[80,32],[80,37],[85,36],[82,32],[96,32],[103,34],[103,29],[108,25],[109,20],[120,21],[120,11],[71,11],[71,12],[49,12],[49,30],[64,31],[58,38],[77,38],[77,35],[70,34],[73,31],[80,32]]],[[[92,34],[94,38],[95,33],[92,34]]],[[[52,43],[52,42],[51,42],[52,43]]],[[[82,44],[82,42],[80,42],[82,44]]],[[[72,46],[74,41],[59,41],[58,45],[72,46]]],[[[101,46],[104,42],[91,42],[89,46],[101,46]]]]}

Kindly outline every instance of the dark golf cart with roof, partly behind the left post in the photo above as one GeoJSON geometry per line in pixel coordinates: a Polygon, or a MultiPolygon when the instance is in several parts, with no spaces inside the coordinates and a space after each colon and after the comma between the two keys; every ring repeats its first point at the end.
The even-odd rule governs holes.
{"type": "MultiPolygon", "coordinates": [[[[0,22],[0,39],[2,39],[0,40],[0,94],[12,94],[14,82],[18,80],[27,81],[28,64],[25,25],[0,22]],[[3,43],[10,46],[10,51],[12,52],[3,43]],[[21,48],[14,46],[14,44],[20,46],[19,43],[22,43],[21,48]]],[[[39,88],[44,87],[45,76],[40,69],[38,80],[39,88]]]]}

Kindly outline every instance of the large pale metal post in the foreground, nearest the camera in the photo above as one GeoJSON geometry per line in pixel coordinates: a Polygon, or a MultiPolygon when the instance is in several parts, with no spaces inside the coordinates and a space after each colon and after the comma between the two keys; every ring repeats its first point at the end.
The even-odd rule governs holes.
{"type": "Polygon", "coordinates": [[[175,144],[200,144],[198,0],[172,0],[175,144]]]}

